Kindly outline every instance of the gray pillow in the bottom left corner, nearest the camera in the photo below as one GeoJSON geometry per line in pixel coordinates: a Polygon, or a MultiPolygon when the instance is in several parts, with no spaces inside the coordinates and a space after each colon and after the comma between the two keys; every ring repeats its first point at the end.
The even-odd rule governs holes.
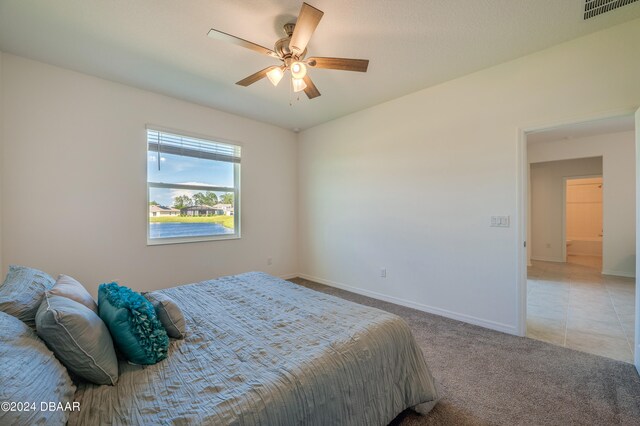
{"type": "Polygon", "coordinates": [[[28,403],[29,409],[0,409],[0,425],[67,423],[76,391],[69,373],[33,330],[4,312],[0,312],[0,360],[0,402],[28,403]],[[41,411],[43,402],[70,409],[41,411]]]}

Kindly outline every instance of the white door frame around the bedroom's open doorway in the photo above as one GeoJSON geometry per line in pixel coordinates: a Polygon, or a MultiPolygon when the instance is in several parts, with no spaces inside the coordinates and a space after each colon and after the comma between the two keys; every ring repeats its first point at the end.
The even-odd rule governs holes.
{"type": "MultiPolygon", "coordinates": [[[[603,120],[607,118],[615,118],[621,116],[633,116],[638,107],[623,108],[591,114],[578,117],[569,117],[555,122],[533,123],[517,128],[517,176],[516,176],[516,332],[519,336],[525,336],[527,332],[527,251],[530,249],[528,244],[528,216],[529,216],[529,162],[527,159],[527,135],[529,133],[539,132],[543,130],[552,130],[558,127],[568,126],[572,124],[588,123],[590,121],[603,120]]],[[[637,123],[636,123],[637,124],[637,123]]],[[[636,135],[640,134],[640,129],[636,125],[636,135]]],[[[636,136],[636,177],[637,183],[640,181],[640,146],[638,144],[638,136],[636,136]]],[[[640,190],[636,188],[636,194],[640,190]]],[[[636,223],[640,225],[640,197],[636,197],[636,223]]],[[[640,226],[636,226],[636,245],[640,246],[640,226]]],[[[636,257],[640,263],[640,258],[636,257]]],[[[636,274],[636,288],[638,284],[638,274],[636,274]]],[[[640,292],[636,292],[636,301],[640,300],[640,292]]],[[[640,336],[640,315],[638,315],[638,302],[636,302],[636,340],[640,336]]],[[[636,342],[636,350],[634,356],[636,366],[640,363],[640,342],[636,342]]]]}

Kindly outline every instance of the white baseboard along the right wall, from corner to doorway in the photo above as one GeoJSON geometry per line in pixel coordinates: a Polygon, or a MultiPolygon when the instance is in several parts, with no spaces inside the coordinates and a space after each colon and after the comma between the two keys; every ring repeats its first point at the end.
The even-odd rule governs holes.
{"type": "Polygon", "coordinates": [[[482,318],[477,318],[471,315],[460,314],[458,312],[452,312],[447,309],[436,308],[435,306],[423,305],[422,303],[412,302],[410,300],[401,299],[394,296],[388,296],[386,294],[378,293],[375,291],[364,290],[358,287],[353,287],[347,284],[338,283],[335,281],[325,280],[323,278],[314,277],[307,274],[298,274],[300,278],[304,278],[305,280],[314,281],[320,284],[328,285],[330,287],[339,288],[342,290],[350,291],[351,293],[360,294],[362,296],[372,297],[378,300],[384,300],[385,302],[395,303],[396,305],[406,306],[407,308],[417,309],[422,312],[427,312],[430,314],[439,315],[446,318],[451,318],[457,321],[466,322],[473,325],[478,325],[480,327],[488,328],[491,330],[501,331],[507,334],[518,335],[518,330],[516,327],[499,323],[496,321],[485,320],[482,318]]]}

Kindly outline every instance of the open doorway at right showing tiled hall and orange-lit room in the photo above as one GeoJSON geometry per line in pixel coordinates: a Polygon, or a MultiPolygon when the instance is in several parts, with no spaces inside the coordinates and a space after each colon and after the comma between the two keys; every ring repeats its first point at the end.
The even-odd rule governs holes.
{"type": "MultiPolygon", "coordinates": [[[[528,194],[521,196],[520,232],[522,241],[526,241],[521,247],[526,248],[519,252],[523,265],[519,298],[523,335],[634,361],[634,129],[633,116],[627,115],[523,132],[522,194],[528,194]],[[556,215],[562,225],[538,226],[547,235],[536,238],[532,232],[536,228],[536,208],[556,207],[536,207],[536,188],[531,187],[537,178],[535,169],[553,161],[597,156],[602,159],[600,172],[566,172],[560,183],[554,181],[554,187],[563,194],[551,197],[557,203],[554,206],[562,210],[556,215]]],[[[539,195],[540,188],[537,190],[539,195]]]]}

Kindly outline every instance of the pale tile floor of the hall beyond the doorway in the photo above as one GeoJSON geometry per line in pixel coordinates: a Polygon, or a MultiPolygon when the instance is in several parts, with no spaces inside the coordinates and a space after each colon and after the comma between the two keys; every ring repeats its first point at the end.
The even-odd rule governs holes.
{"type": "Polygon", "coordinates": [[[633,362],[635,280],[600,274],[597,258],[567,260],[532,262],[527,337],[633,362]]]}

